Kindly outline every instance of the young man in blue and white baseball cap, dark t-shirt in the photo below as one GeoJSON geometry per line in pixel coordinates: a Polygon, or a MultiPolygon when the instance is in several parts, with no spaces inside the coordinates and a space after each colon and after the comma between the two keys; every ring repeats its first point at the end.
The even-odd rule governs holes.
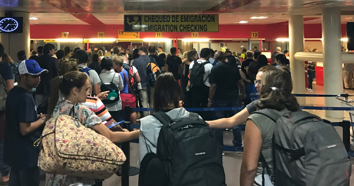
{"type": "Polygon", "coordinates": [[[39,186],[39,149],[33,143],[42,134],[45,115],[37,115],[30,90],[38,86],[41,73],[47,72],[34,60],[22,61],[18,85],[7,95],[4,162],[11,166],[9,186],[39,186]]]}

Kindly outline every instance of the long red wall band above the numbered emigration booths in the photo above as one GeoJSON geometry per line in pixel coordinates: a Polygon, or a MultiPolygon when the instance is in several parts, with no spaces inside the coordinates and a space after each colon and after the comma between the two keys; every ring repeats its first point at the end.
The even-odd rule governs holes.
{"type": "MultiPolygon", "coordinates": [[[[118,38],[123,25],[38,25],[30,26],[31,39],[61,38],[61,32],[69,32],[69,38],[97,38],[97,32],[105,32],[105,38],[118,38]]],[[[321,24],[305,24],[305,38],[322,38],[321,24]]],[[[199,38],[230,39],[250,38],[251,31],[258,31],[259,38],[288,38],[288,24],[219,25],[219,32],[199,32],[199,38]]],[[[190,32],[164,32],[163,38],[191,38],[190,32]]],[[[342,37],[346,37],[346,25],[342,24],[342,37]]],[[[140,38],[155,38],[154,32],[140,32],[140,38]]]]}

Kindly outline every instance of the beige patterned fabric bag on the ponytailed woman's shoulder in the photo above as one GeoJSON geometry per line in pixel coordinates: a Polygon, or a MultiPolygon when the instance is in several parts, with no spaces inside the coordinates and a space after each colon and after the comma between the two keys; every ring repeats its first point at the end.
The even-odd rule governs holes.
{"type": "Polygon", "coordinates": [[[114,143],[69,115],[49,119],[40,141],[38,167],[46,173],[108,179],[126,160],[114,143]]]}

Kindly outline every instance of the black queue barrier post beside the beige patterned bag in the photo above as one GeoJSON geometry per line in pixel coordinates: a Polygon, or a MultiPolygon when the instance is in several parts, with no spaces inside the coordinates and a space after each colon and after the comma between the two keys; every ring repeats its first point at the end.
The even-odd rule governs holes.
{"type": "MultiPolygon", "coordinates": [[[[130,106],[126,105],[124,107],[125,122],[123,123],[123,128],[127,130],[130,130],[130,112],[130,106]]],[[[126,160],[122,165],[122,186],[129,186],[129,176],[139,174],[139,169],[130,166],[130,141],[122,143],[122,151],[126,157],[126,160]]]]}

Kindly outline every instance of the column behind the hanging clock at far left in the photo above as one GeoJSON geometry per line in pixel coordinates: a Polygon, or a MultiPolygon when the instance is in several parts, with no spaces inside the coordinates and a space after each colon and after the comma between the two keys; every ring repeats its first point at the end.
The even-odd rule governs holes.
{"type": "MultiPolygon", "coordinates": [[[[4,16],[4,13],[1,14],[4,16]]],[[[29,12],[12,12],[13,17],[23,17],[23,32],[22,33],[1,33],[1,43],[5,47],[7,53],[13,61],[17,61],[17,52],[20,50],[26,51],[27,58],[31,56],[30,37],[29,37],[29,12]]]]}

